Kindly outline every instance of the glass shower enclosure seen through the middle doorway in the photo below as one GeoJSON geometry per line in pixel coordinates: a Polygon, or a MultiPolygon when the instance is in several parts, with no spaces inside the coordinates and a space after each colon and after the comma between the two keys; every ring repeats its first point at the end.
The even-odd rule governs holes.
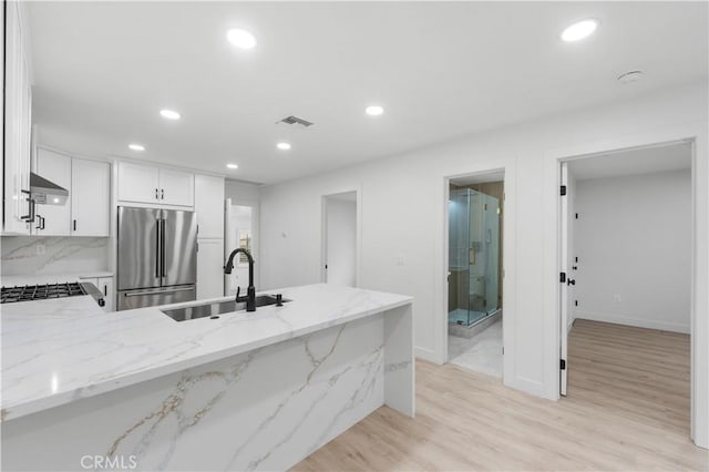
{"type": "Polygon", "coordinates": [[[499,306],[500,205],[471,188],[449,199],[449,322],[472,326],[499,306]]]}

